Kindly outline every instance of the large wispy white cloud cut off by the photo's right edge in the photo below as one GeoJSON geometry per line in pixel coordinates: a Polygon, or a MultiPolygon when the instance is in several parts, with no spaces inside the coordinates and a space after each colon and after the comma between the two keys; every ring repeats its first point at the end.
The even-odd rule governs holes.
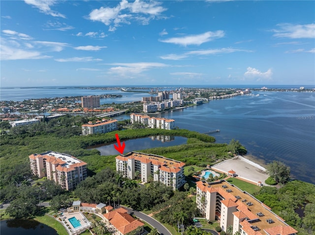
{"type": "Polygon", "coordinates": [[[278,24],[279,29],[272,29],[278,38],[315,38],[315,24],[292,25],[278,24]]]}

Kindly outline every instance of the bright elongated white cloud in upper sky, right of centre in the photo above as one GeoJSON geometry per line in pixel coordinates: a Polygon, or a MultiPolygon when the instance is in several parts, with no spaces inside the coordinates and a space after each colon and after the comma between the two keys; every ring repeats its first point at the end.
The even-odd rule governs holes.
{"type": "Polygon", "coordinates": [[[188,35],[184,37],[173,37],[169,39],[159,40],[160,42],[165,43],[174,43],[179,44],[181,46],[187,46],[187,45],[201,45],[205,42],[212,41],[217,38],[224,37],[224,31],[217,30],[214,32],[208,31],[202,34],[196,34],[196,35],[188,35]]]}

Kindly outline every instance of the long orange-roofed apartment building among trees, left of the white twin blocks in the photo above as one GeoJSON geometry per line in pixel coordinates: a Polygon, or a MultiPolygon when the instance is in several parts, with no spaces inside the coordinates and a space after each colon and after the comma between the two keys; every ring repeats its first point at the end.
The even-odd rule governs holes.
{"type": "Polygon", "coordinates": [[[102,119],[102,121],[88,122],[82,127],[82,135],[88,134],[103,134],[111,131],[116,131],[118,129],[117,120],[107,120],[102,119]]]}

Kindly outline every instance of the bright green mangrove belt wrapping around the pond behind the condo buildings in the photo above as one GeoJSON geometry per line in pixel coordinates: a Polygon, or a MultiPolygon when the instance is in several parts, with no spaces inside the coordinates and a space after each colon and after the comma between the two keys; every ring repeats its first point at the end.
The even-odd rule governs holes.
{"type": "MultiPolygon", "coordinates": [[[[122,141],[152,135],[187,137],[188,144],[186,145],[152,150],[160,155],[163,154],[163,151],[167,151],[166,157],[174,156],[175,159],[183,160],[187,164],[205,165],[215,162],[216,159],[231,156],[227,153],[231,151],[228,144],[213,143],[215,142],[214,137],[195,131],[140,129],[82,136],[80,135],[80,125],[86,121],[80,116],[65,116],[29,127],[11,128],[10,134],[1,135],[1,186],[14,181],[23,181],[30,168],[28,157],[34,153],[40,154],[48,150],[66,153],[86,161],[90,175],[105,167],[115,169],[116,156],[100,156],[99,151],[86,149],[96,144],[114,143],[116,141],[115,133],[119,134],[122,141]],[[187,154],[183,155],[178,152],[184,149],[187,154]]],[[[239,148],[244,149],[241,145],[239,148]]]]}

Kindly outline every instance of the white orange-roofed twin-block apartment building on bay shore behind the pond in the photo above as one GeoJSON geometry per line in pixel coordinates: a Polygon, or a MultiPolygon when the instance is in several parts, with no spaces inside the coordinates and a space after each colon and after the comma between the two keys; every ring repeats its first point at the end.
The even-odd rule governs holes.
{"type": "Polygon", "coordinates": [[[150,128],[158,128],[164,130],[172,130],[175,128],[175,120],[168,119],[168,118],[156,118],[150,117],[148,115],[141,115],[141,114],[130,114],[130,122],[131,124],[134,123],[142,123],[145,126],[150,128]]]}

